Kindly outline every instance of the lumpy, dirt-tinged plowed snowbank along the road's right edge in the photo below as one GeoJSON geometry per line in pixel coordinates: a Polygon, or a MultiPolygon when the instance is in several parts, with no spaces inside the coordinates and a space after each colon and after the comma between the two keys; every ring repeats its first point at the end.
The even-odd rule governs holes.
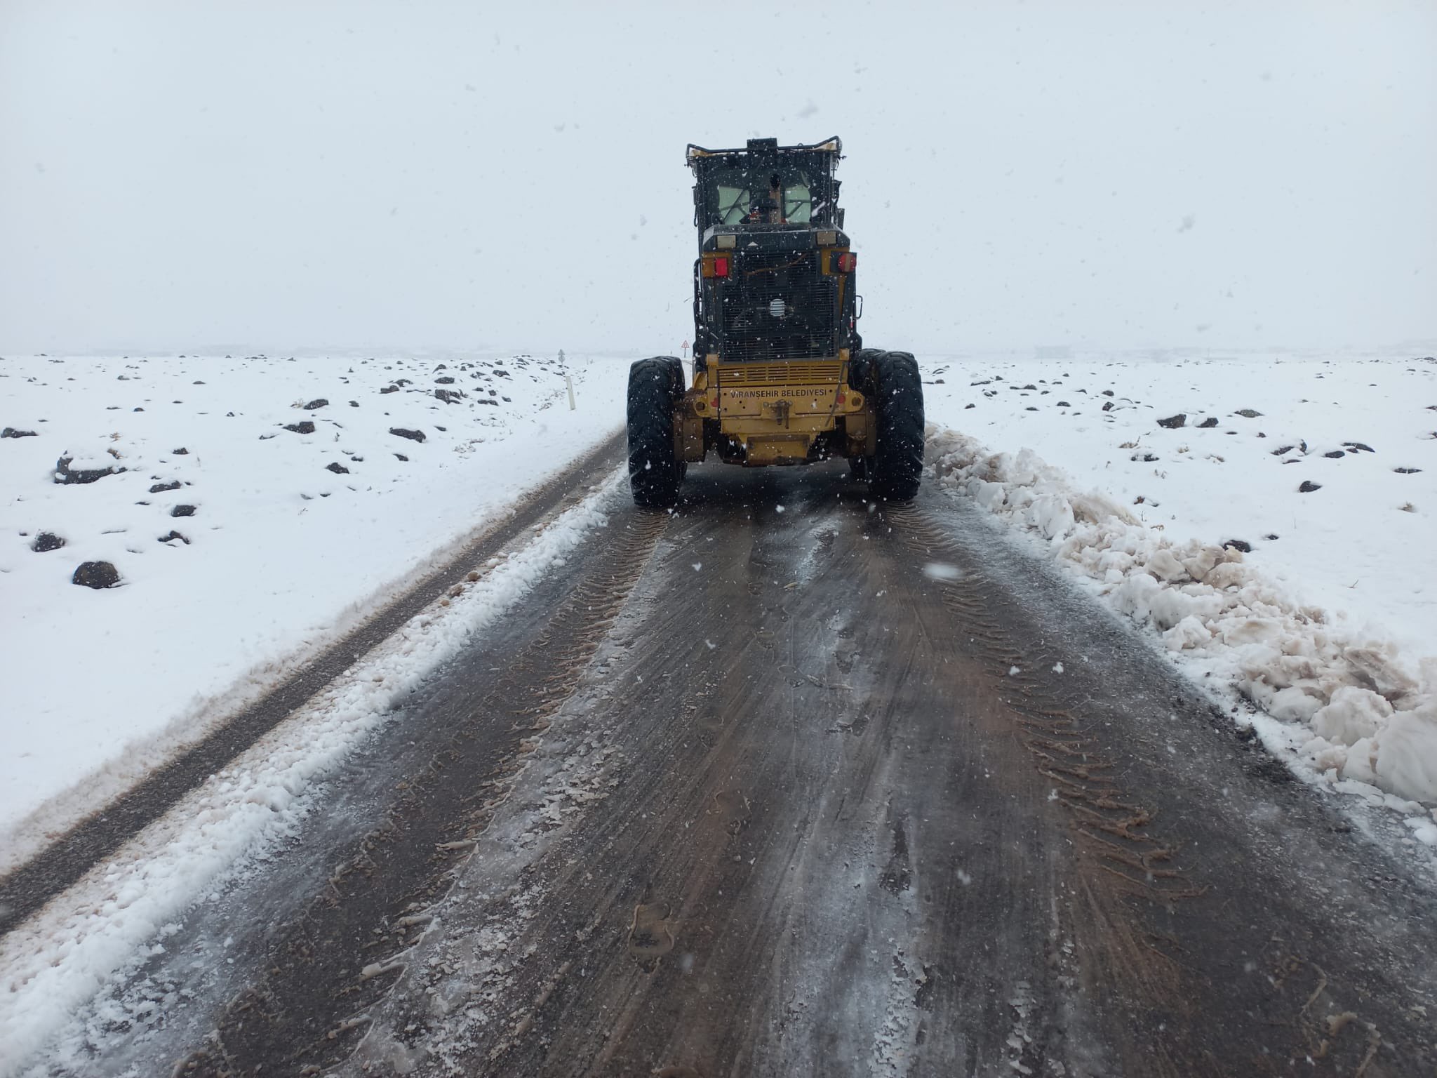
{"type": "MultiPolygon", "coordinates": [[[[1253,571],[1242,550],[1173,542],[1101,493],[1082,494],[1032,450],[990,453],[930,427],[940,483],[1048,540],[1121,612],[1203,661],[1275,719],[1332,782],[1437,802],[1437,658],[1413,664],[1387,641],[1335,625],[1253,571]]],[[[1437,845],[1437,829],[1414,828],[1437,845]]]]}

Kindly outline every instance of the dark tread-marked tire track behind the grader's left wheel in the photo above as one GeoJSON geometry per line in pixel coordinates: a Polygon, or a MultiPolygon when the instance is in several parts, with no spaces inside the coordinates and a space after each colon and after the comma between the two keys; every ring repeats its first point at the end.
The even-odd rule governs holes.
{"type": "Polygon", "coordinates": [[[402,976],[427,910],[454,885],[578,671],[642,576],[668,515],[622,513],[545,631],[460,716],[448,746],[398,783],[384,821],[292,923],[270,936],[267,972],[224,1009],[175,1075],[320,1074],[368,1029],[368,1009],[402,976]],[[504,722],[507,720],[507,723],[504,722]]]}

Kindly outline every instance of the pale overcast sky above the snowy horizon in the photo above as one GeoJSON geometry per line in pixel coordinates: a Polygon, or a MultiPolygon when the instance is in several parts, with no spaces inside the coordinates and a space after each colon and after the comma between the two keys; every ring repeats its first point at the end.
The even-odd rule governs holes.
{"type": "Polygon", "coordinates": [[[869,344],[1437,338],[1437,3],[0,0],[0,354],[668,352],[838,134],[869,344]]]}

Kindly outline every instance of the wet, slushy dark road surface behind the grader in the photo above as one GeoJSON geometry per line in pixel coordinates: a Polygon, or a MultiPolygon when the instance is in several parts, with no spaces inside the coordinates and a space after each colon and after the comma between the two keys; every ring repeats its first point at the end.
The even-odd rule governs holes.
{"type": "Polygon", "coordinates": [[[864,493],[615,497],[137,973],[185,1018],[55,1072],[1437,1072],[1430,887],[984,515],[864,493]]]}

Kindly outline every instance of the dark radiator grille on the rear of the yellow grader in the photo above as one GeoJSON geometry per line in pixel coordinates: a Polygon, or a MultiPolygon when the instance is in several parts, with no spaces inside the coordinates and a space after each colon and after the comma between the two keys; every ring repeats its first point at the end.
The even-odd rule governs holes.
{"type": "Polygon", "coordinates": [[[730,362],[833,355],[838,290],[818,252],[740,252],[720,300],[720,355],[730,362]]]}

